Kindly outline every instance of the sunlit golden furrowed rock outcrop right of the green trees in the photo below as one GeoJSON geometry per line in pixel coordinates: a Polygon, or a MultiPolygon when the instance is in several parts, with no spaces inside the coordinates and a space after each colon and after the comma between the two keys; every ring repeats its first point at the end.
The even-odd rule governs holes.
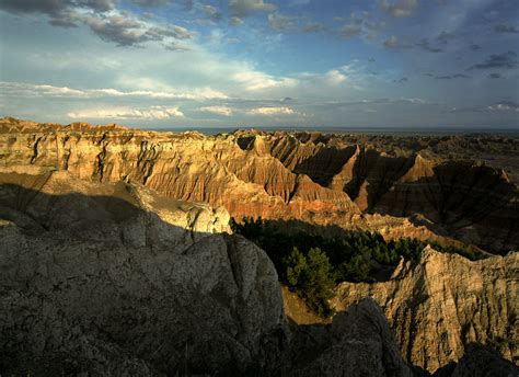
{"type": "Polygon", "coordinates": [[[345,310],[372,297],[404,358],[429,372],[460,359],[471,343],[517,362],[518,276],[518,253],[471,262],[426,248],[418,263],[402,261],[389,282],[342,283],[333,306],[345,310]]]}

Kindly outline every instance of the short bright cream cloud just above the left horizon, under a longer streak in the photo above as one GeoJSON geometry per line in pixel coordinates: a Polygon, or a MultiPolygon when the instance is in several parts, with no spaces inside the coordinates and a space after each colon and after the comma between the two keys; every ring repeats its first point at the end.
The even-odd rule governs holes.
{"type": "Polygon", "coordinates": [[[72,119],[166,119],[184,117],[178,107],[151,106],[147,108],[101,107],[67,113],[72,119]]]}

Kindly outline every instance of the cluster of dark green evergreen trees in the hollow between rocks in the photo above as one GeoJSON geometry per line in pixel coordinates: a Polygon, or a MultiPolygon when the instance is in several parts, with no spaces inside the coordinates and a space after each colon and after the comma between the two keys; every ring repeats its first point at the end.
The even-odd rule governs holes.
{"type": "Polygon", "coordinates": [[[427,244],[435,250],[458,253],[470,260],[485,258],[466,248],[442,247],[412,238],[385,241],[379,232],[356,230],[324,238],[308,232],[286,233],[262,218],[231,219],[231,229],[266,251],[279,279],[316,313],[333,313],[328,299],[341,282],[373,282],[374,266],[396,266],[400,259],[417,261],[427,244]]]}

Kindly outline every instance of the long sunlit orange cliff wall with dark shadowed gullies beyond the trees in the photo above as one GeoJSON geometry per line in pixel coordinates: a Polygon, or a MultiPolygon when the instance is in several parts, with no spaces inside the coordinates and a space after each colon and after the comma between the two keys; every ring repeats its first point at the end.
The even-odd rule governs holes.
{"type": "MultiPolygon", "coordinates": [[[[261,132],[208,137],[11,118],[0,128],[5,168],[46,167],[93,182],[138,183],[166,197],[223,206],[238,219],[447,237],[501,253],[519,245],[516,183],[500,169],[449,159],[460,156],[459,137],[261,132]]],[[[501,146],[515,176],[519,162],[516,167],[509,149],[518,147],[506,139],[484,141],[501,146]]],[[[478,150],[471,146],[469,159],[478,150]]],[[[504,159],[496,156],[487,164],[504,159]]]]}

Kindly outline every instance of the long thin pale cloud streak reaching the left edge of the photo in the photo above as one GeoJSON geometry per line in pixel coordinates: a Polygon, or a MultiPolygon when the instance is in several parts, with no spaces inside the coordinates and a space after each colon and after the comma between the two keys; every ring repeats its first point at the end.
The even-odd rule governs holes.
{"type": "Polygon", "coordinates": [[[66,96],[76,99],[102,99],[102,98],[141,98],[161,100],[224,100],[228,96],[211,88],[195,88],[188,92],[158,92],[158,91],[120,91],[113,88],[79,90],[67,87],[54,87],[48,84],[31,84],[21,82],[0,81],[0,93],[9,96],[66,96]]]}

